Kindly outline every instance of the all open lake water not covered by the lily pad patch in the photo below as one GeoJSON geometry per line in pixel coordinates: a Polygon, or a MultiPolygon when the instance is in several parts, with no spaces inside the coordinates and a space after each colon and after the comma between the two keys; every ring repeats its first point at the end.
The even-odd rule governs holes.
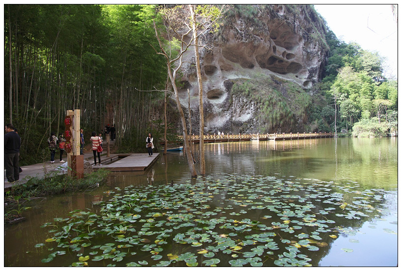
{"type": "MultiPolygon", "coordinates": [[[[198,145],[194,145],[195,148],[198,145]]],[[[317,181],[334,186],[385,191],[381,216],[350,223],[347,234],[330,242],[325,253],[315,255],[314,266],[396,266],[398,232],[398,139],[327,138],[293,141],[253,141],[205,145],[207,176],[272,176],[278,179],[317,181]],[[380,245],[378,245],[380,244],[380,245]],[[345,250],[346,249],[346,250],[345,250]],[[350,251],[352,252],[346,252],[350,251]]],[[[201,178],[201,177],[199,177],[201,178]]],[[[62,255],[49,264],[41,262],[50,246],[35,248],[52,237],[40,226],[73,210],[98,212],[96,203],[122,193],[124,187],[185,183],[190,174],[182,152],[161,155],[144,173],[111,173],[108,181],[91,191],[76,191],[28,203],[28,219],[4,226],[4,266],[68,266],[62,255]]],[[[347,192],[347,191],[346,191],[347,192]]],[[[348,222],[345,222],[347,225],[348,222]]],[[[74,255],[73,255],[74,256],[74,255]]]]}

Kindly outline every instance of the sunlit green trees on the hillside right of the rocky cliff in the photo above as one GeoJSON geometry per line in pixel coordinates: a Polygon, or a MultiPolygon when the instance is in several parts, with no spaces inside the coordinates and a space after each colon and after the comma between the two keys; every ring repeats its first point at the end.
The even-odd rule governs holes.
{"type": "Polygon", "coordinates": [[[349,130],[362,119],[395,121],[387,116],[388,113],[397,116],[398,81],[384,77],[384,58],[378,52],[363,50],[355,42],[346,44],[326,27],[330,51],[320,89],[328,98],[328,104],[337,107],[334,108],[340,121],[337,130],[349,130]],[[337,95],[335,105],[334,94],[337,95]]]}

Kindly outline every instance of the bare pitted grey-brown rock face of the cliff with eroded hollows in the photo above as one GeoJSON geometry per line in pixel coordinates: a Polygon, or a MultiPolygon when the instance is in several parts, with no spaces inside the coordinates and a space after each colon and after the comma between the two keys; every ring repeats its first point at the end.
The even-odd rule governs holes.
{"type": "MultiPolygon", "coordinates": [[[[209,35],[202,42],[201,70],[206,131],[231,130],[236,123],[252,120],[253,104],[241,97],[230,99],[231,80],[275,76],[310,89],[320,80],[327,54],[325,27],[309,5],[255,5],[255,18],[241,14],[228,19],[219,37],[209,35]]],[[[198,111],[198,83],[194,51],[183,65],[181,103],[198,111]]],[[[198,128],[197,128],[198,129],[198,128]]]]}

